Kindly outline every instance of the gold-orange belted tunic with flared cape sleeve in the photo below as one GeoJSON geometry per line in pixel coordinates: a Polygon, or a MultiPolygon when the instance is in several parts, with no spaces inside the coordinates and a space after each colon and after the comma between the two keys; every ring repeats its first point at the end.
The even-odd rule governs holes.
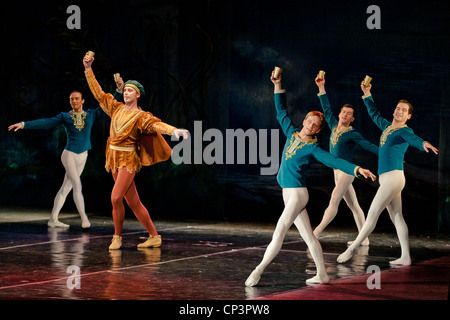
{"type": "Polygon", "coordinates": [[[120,171],[125,167],[132,173],[133,170],[139,171],[142,166],[167,160],[172,149],[161,134],[171,135],[176,128],[141,108],[128,110],[113,95],[103,92],[92,69],[85,71],[85,75],[95,99],[111,118],[106,146],[106,170],[120,171]]]}

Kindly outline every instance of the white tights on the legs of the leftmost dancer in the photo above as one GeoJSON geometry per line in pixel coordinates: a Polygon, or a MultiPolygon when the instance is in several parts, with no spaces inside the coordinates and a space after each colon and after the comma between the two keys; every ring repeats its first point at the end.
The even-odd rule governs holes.
{"type": "Polygon", "coordinates": [[[64,176],[64,182],[56,194],[55,200],[53,202],[53,210],[50,215],[50,221],[58,221],[58,215],[61,208],[66,201],[66,197],[69,192],[73,189],[73,200],[75,206],[77,207],[78,213],[84,222],[88,221],[86,212],[84,209],[84,197],[81,192],[81,173],[83,172],[84,165],[86,164],[88,152],[77,154],[64,149],[61,154],[61,162],[66,169],[66,174],[64,176]]]}

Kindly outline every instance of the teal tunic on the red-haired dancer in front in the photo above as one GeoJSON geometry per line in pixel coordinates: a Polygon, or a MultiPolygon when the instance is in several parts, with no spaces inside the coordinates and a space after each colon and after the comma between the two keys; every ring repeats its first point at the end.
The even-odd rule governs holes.
{"type": "Polygon", "coordinates": [[[355,174],[356,165],[326,152],[320,148],[317,139],[300,139],[300,129],[294,127],[287,114],[286,94],[276,93],[274,98],[277,120],[287,137],[277,175],[277,181],[282,188],[306,187],[307,168],[314,159],[327,167],[342,170],[350,175],[355,174]]]}

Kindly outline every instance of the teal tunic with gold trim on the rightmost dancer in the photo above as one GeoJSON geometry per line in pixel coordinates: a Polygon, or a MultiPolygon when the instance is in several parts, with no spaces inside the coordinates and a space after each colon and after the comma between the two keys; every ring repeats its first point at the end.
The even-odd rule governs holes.
{"type": "Polygon", "coordinates": [[[383,130],[379,145],[378,174],[403,170],[403,161],[408,146],[411,145],[425,151],[424,140],[416,136],[407,125],[392,127],[392,123],[380,115],[372,96],[364,97],[363,101],[373,122],[383,130]]]}

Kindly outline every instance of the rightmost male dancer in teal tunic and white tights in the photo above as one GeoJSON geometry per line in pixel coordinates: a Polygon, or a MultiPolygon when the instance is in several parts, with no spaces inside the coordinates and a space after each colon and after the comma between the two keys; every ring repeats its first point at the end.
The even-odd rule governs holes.
{"type": "Polygon", "coordinates": [[[380,115],[375,106],[375,102],[370,93],[372,85],[361,84],[364,92],[363,100],[367,107],[369,116],[373,122],[383,131],[380,138],[378,174],[380,177],[380,187],[370,205],[366,222],[358,234],[355,241],[342,253],[337,261],[339,263],[350,260],[354,250],[366,239],[375,229],[378,217],[386,208],[394,223],[397,236],[400,242],[401,256],[399,259],[390,261],[391,265],[410,265],[411,256],[409,252],[408,226],[403,218],[402,212],[402,190],[405,186],[405,174],[403,172],[403,159],[408,146],[416,147],[419,150],[433,151],[435,154],[439,150],[416,136],[406,122],[411,119],[412,105],[407,100],[400,100],[395,107],[392,122],[389,122],[380,115]]]}

